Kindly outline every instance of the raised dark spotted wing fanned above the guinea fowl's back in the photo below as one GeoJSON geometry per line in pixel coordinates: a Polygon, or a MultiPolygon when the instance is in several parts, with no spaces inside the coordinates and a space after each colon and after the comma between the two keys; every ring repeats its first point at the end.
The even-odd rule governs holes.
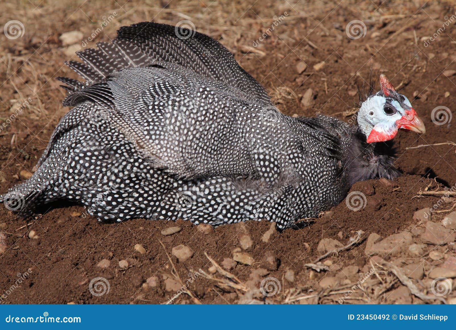
{"type": "MultiPolygon", "coordinates": [[[[72,93],[105,82],[125,68],[172,63],[191,69],[201,76],[243,90],[256,100],[270,103],[266,90],[243,68],[233,54],[205,34],[181,26],[141,22],[122,26],[111,42],[98,42],[98,48],[76,52],[83,61],[68,61],[67,66],[85,82],[59,77],[62,87],[72,93]]],[[[63,101],[66,104],[66,100],[63,101]]]]}

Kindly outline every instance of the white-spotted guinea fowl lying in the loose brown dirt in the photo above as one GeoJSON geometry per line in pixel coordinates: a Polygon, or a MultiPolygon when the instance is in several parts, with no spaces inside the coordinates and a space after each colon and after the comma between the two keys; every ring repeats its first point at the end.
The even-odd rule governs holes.
{"type": "Polygon", "coordinates": [[[0,198],[29,216],[67,199],[99,220],[267,219],[283,229],[340,203],[351,185],[399,175],[391,140],[425,132],[409,100],[380,76],[349,126],[281,114],[265,89],[204,34],[142,22],[66,63],[74,106],[31,178],[0,198]]]}

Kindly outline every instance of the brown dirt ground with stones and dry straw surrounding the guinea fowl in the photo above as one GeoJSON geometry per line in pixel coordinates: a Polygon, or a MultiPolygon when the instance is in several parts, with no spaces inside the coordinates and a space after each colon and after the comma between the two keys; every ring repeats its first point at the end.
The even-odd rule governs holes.
{"type": "Polygon", "coordinates": [[[455,145],[446,143],[456,141],[451,2],[17,0],[0,6],[0,193],[33,171],[68,110],[54,78],[76,77],[63,62],[140,21],[191,21],[228,47],[289,115],[351,120],[356,83],[377,69],[409,97],[427,130],[395,138],[402,177],[352,187],[365,196],[359,210],[350,199],[281,233],[267,221],[215,230],[184,221],[104,224],[64,203],[29,219],[27,229],[2,206],[0,303],[456,303],[456,199],[415,197],[456,185],[455,145]],[[12,20],[21,23],[15,23],[19,36],[6,28],[12,20]],[[83,37],[63,45],[59,37],[69,31],[83,37]],[[447,110],[437,109],[444,111],[439,115],[438,106],[447,110]],[[163,235],[169,227],[180,230],[163,235]]]}

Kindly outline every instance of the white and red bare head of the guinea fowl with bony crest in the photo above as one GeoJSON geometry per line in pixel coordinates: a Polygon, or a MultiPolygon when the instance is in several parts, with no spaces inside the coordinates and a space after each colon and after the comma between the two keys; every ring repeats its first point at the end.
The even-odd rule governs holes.
{"type": "Polygon", "coordinates": [[[381,90],[369,95],[358,111],[358,126],[367,142],[388,141],[399,129],[425,133],[425,125],[410,101],[396,92],[384,74],[380,75],[381,90]]]}

